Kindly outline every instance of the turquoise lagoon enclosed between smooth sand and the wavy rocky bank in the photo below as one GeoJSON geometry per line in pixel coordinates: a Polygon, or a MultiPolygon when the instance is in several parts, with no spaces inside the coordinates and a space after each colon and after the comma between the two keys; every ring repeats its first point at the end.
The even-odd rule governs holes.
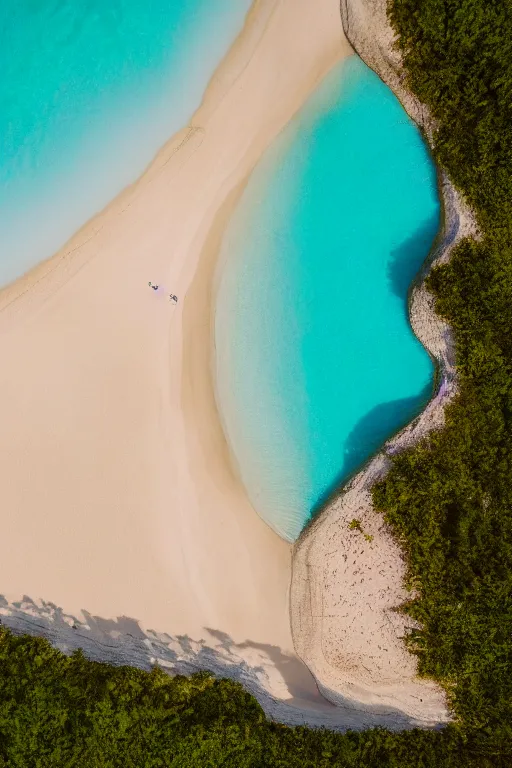
{"type": "Polygon", "coordinates": [[[217,399],[255,508],[289,540],[430,396],[407,292],[439,216],[417,128],[355,56],[251,176],[222,246],[217,399]]]}

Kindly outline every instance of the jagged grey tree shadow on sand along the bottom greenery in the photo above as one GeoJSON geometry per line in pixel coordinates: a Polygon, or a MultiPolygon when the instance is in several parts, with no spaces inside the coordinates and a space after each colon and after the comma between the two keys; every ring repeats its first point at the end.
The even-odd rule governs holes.
{"type": "Polygon", "coordinates": [[[160,666],[169,674],[190,675],[209,670],[217,677],[240,682],[271,719],[289,725],[325,725],[336,730],[388,726],[412,728],[418,723],[400,710],[361,704],[337,696],[334,706],[319,692],[303,662],[278,646],[245,640],[237,643],[225,632],[204,629],[200,639],[188,635],[144,631],[137,619],[119,616],[106,619],[82,611],[83,619],[65,613],[53,603],[24,597],[9,603],[0,595],[0,623],[17,634],[46,637],[64,653],[81,649],[93,661],[150,670],[160,666]],[[84,621],[85,619],[85,621],[84,621]],[[260,664],[243,658],[246,649],[256,652],[260,664]],[[267,689],[265,668],[281,675],[288,696],[278,699],[267,689]]]}

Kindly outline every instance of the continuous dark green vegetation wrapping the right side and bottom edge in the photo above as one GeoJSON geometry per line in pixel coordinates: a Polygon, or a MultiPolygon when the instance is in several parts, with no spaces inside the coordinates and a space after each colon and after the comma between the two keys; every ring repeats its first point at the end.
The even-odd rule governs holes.
{"type": "MultiPolygon", "coordinates": [[[[239,685],[115,668],[0,631],[0,768],[489,768],[512,765],[512,6],[391,0],[435,156],[478,216],[430,277],[454,328],[461,393],[447,426],[374,492],[403,542],[423,674],[457,722],[346,735],[268,723],[239,685]]],[[[355,521],[357,523],[357,521],[355,521]]],[[[354,526],[355,527],[355,526],[354,526]]]]}

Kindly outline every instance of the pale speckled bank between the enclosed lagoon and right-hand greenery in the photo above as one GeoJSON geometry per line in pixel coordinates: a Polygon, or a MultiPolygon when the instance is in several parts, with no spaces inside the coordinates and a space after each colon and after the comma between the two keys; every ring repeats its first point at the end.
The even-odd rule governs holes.
{"type": "MultiPolygon", "coordinates": [[[[386,9],[386,0],[341,0],[345,34],[431,146],[435,124],[425,105],[404,85],[386,9]]],[[[404,634],[414,626],[396,610],[410,597],[402,586],[405,562],[382,516],[373,509],[370,491],[388,471],[389,456],[443,426],[445,407],[458,391],[451,330],[436,315],[425,278],[432,266],[450,258],[462,238],[477,236],[478,231],[472,212],[444,172],[439,185],[441,230],[409,297],[411,327],[436,363],[435,395],[304,530],[294,547],[290,598],[295,649],[326,698],[333,703],[340,697],[352,698],[354,706],[363,708],[378,701],[426,727],[447,722],[450,713],[441,689],[417,677],[416,659],[403,643],[404,634]],[[352,520],[359,521],[361,530],[350,529],[352,520]]]]}

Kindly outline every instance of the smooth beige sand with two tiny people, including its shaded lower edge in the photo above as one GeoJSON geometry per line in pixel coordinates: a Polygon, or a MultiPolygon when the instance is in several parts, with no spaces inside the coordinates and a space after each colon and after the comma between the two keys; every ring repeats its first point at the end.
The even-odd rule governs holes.
{"type": "Polygon", "coordinates": [[[189,126],[0,294],[3,623],[95,658],[222,671],[285,721],[333,726],[351,720],[293,650],[291,548],[232,472],[210,312],[248,174],[350,52],[337,0],[255,2],[189,126]]]}

